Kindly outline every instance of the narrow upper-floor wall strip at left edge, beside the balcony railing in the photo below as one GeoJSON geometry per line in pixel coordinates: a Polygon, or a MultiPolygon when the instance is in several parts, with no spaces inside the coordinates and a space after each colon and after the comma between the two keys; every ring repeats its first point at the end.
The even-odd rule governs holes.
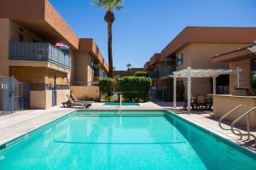
{"type": "Polygon", "coordinates": [[[9,20],[0,19],[0,76],[9,76],[9,20]]]}

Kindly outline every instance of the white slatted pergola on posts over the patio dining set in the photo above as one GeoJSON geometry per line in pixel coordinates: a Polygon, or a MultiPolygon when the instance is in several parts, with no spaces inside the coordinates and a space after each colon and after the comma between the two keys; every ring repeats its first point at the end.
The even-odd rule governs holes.
{"type": "Polygon", "coordinates": [[[240,74],[241,69],[191,69],[188,67],[182,71],[174,71],[173,72],[173,107],[176,107],[176,88],[177,88],[177,78],[187,78],[188,79],[188,111],[191,110],[191,78],[201,77],[201,78],[211,78],[213,79],[213,94],[216,94],[216,78],[220,75],[236,75],[236,86],[237,88],[240,87],[240,74]]]}

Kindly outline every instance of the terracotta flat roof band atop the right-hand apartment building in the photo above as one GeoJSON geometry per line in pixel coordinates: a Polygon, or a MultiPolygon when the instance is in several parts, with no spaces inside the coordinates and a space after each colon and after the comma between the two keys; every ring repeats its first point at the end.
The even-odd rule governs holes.
{"type": "Polygon", "coordinates": [[[189,43],[253,43],[256,27],[188,26],[161,51],[161,59],[175,54],[189,43]]]}

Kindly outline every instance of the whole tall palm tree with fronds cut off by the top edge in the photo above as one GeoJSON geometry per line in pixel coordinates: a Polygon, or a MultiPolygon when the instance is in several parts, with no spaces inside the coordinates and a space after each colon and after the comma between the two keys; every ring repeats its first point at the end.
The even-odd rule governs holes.
{"type": "Polygon", "coordinates": [[[113,77],[113,55],[112,55],[112,24],[114,21],[113,9],[122,10],[124,0],[92,0],[98,7],[104,8],[106,14],[104,20],[108,23],[108,77],[113,77]]]}

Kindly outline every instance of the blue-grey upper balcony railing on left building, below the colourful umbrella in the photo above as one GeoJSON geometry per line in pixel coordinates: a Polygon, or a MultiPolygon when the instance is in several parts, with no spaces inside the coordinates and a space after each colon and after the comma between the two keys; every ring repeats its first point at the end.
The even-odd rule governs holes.
{"type": "Polygon", "coordinates": [[[71,57],[48,42],[9,42],[9,59],[49,61],[71,67],[71,57]]]}

